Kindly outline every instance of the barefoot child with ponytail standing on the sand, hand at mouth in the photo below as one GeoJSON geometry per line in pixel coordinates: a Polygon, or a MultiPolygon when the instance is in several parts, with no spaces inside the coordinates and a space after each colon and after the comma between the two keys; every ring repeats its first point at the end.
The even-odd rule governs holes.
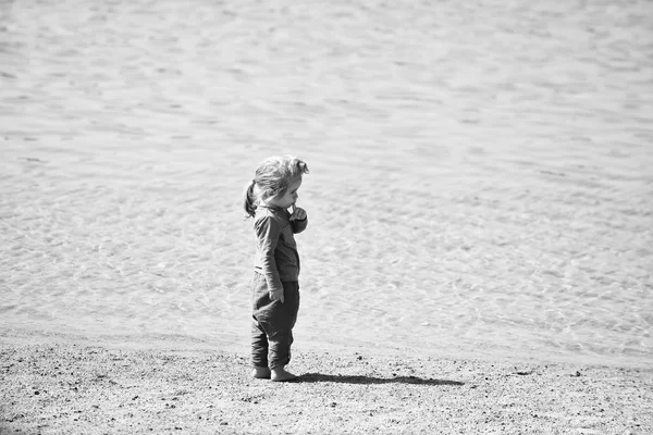
{"type": "Polygon", "coordinates": [[[263,161],[247,186],[246,217],[254,217],[251,375],[272,381],[294,381],[285,370],[291,361],[293,327],[299,309],[299,254],[294,234],[308,224],[306,211],[295,207],[301,175],[308,166],[287,156],[263,161]],[[289,213],[286,209],[291,208],[289,213]]]}

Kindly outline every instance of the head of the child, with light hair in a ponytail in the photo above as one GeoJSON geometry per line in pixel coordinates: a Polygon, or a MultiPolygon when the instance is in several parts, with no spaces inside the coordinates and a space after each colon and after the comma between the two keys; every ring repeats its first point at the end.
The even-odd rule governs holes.
{"type": "Polygon", "coordinates": [[[266,159],[256,170],[254,179],[247,185],[244,195],[244,208],[247,216],[256,214],[256,208],[262,201],[275,202],[289,207],[288,187],[296,190],[301,183],[301,175],[308,174],[308,166],[294,156],[272,157],[266,159]]]}

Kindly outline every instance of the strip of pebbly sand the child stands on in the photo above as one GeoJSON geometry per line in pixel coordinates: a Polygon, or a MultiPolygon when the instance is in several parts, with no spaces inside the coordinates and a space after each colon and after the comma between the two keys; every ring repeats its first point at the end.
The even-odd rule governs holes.
{"type": "Polygon", "coordinates": [[[183,343],[5,335],[0,356],[2,434],[653,432],[646,369],[299,351],[280,384],[183,343]]]}

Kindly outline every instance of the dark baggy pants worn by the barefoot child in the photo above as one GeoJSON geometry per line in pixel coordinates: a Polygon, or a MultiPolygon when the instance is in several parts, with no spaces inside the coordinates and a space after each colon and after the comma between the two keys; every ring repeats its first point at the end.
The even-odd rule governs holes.
{"type": "Polygon", "coordinates": [[[266,277],[258,272],[254,274],[251,363],[255,366],[275,369],[291,361],[293,327],[299,311],[299,283],[282,285],[284,302],[271,301],[266,277]]]}

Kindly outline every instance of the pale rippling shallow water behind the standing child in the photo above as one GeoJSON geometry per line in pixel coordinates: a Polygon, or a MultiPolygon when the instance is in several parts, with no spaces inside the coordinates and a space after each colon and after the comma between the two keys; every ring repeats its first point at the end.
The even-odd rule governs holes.
{"type": "Polygon", "coordinates": [[[0,2],[0,327],[246,349],[258,161],[297,347],[650,365],[646,1],[0,2]]]}

